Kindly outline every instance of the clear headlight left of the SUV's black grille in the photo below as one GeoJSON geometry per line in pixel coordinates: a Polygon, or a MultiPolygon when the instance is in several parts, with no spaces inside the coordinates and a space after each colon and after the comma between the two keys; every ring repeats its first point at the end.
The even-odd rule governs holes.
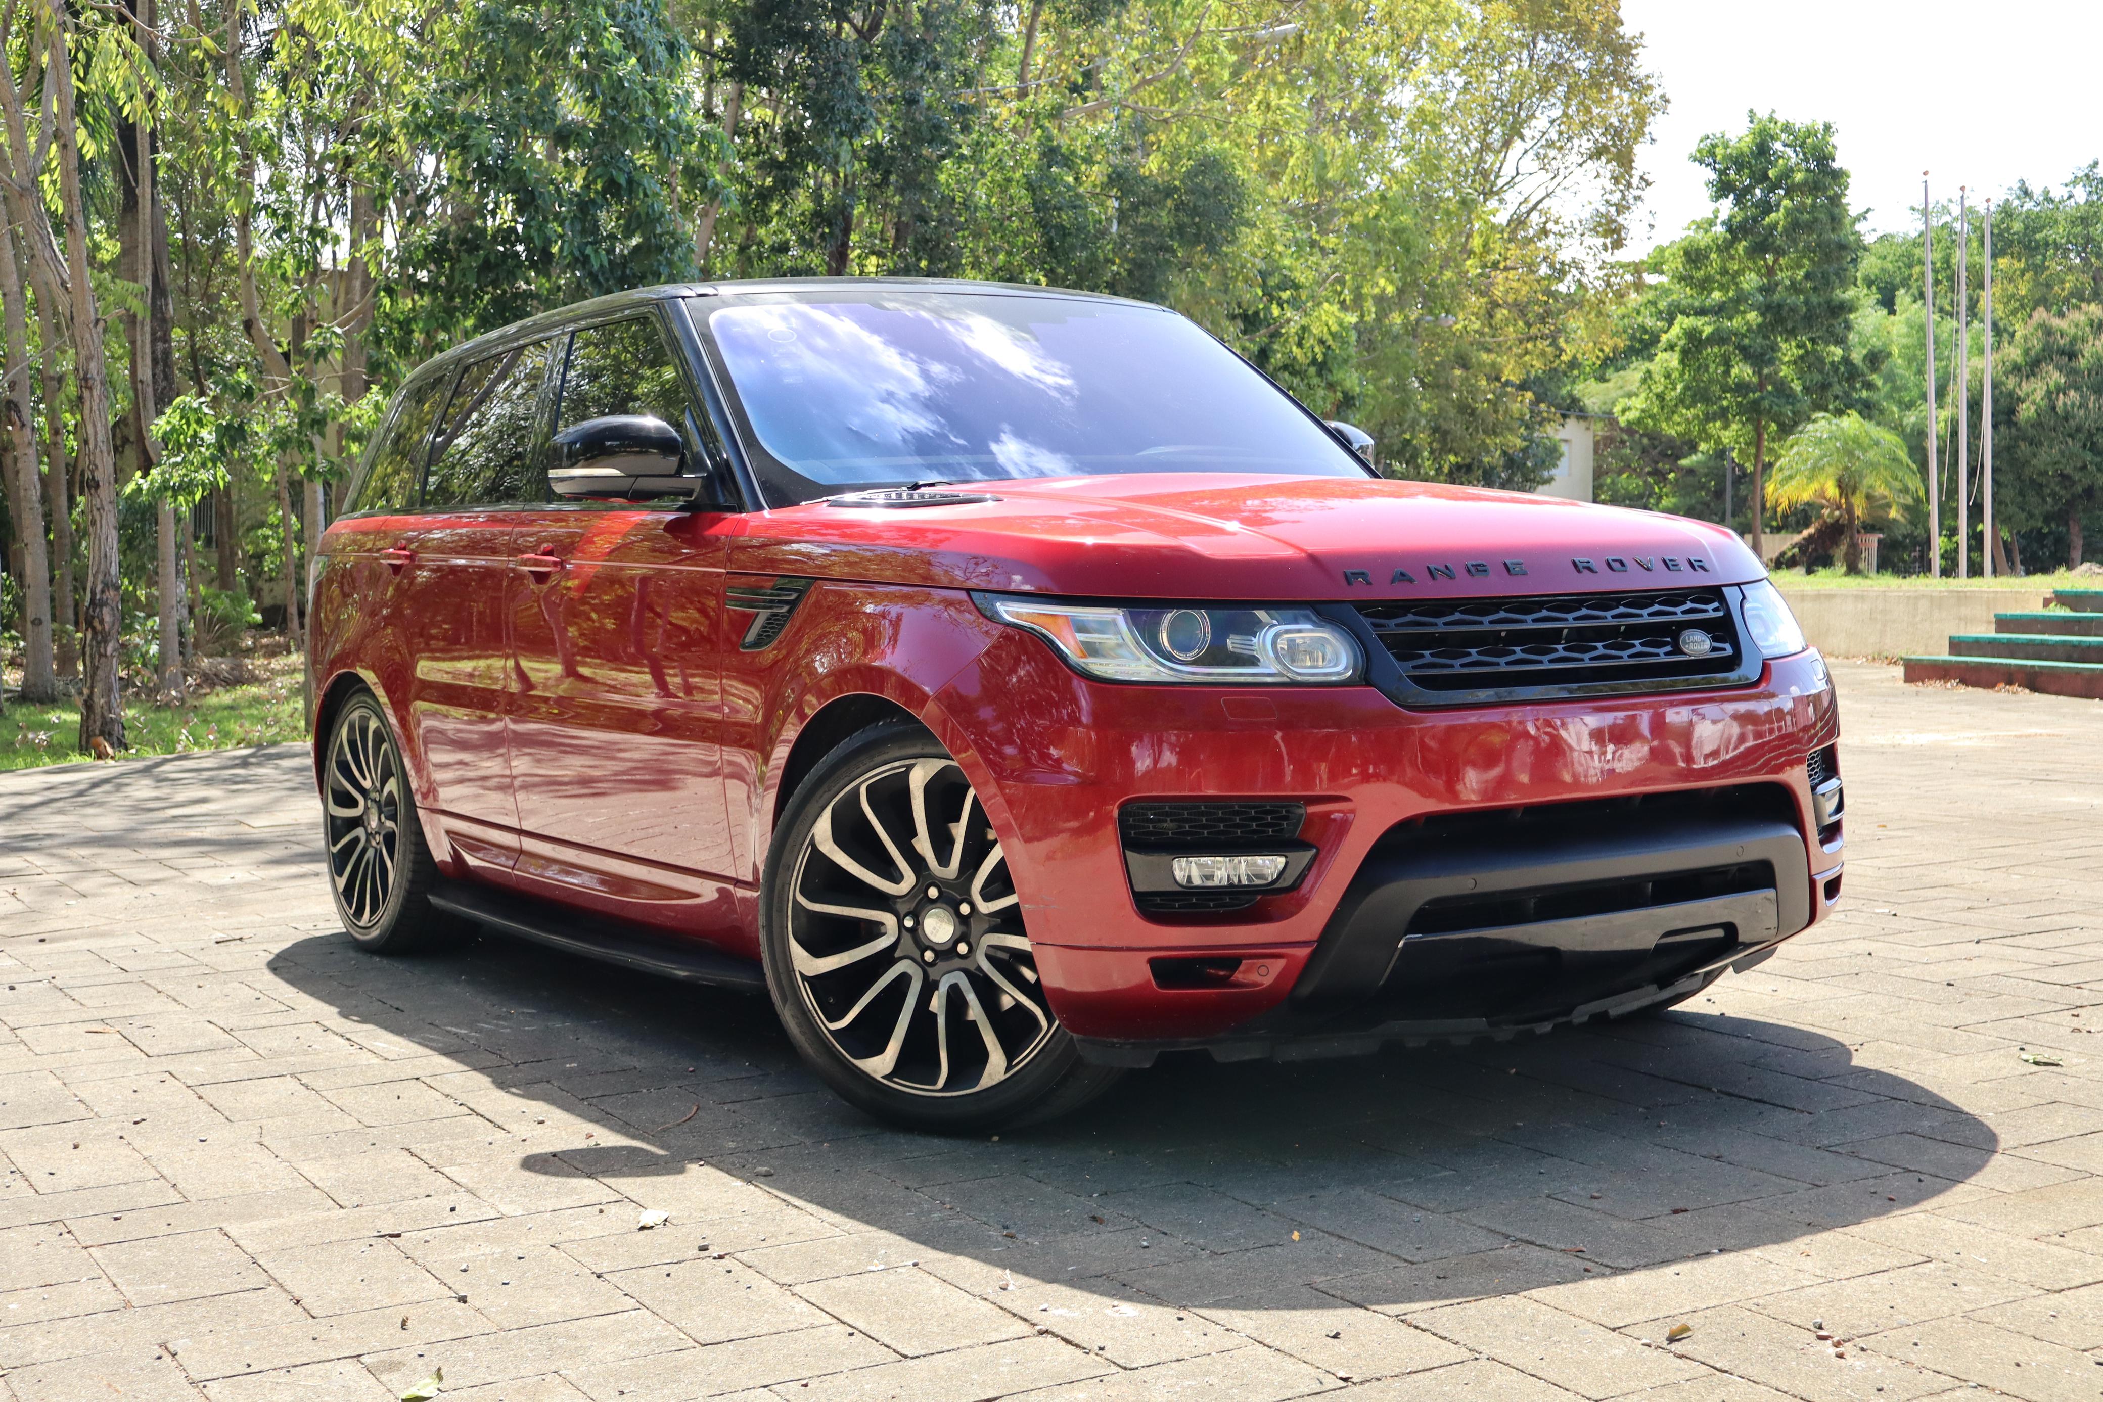
{"type": "Polygon", "coordinates": [[[1001,622],[1028,628],[1104,681],[1338,685],[1356,681],[1359,643],[1304,607],[1115,607],[982,597],[1001,622]]]}

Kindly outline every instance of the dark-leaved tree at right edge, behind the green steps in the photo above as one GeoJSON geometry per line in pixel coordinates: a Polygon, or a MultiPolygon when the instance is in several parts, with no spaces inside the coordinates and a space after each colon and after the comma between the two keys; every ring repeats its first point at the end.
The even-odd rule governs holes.
{"type": "Polygon", "coordinates": [[[1994,507],[2017,525],[2065,519],[2071,570],[2082,563],[2082,517],[2103,507],[2103,305],[2036,311],[2006,366],[2015,433],[2002,462],[2015,471],[1996,462],[1994,507]]]}

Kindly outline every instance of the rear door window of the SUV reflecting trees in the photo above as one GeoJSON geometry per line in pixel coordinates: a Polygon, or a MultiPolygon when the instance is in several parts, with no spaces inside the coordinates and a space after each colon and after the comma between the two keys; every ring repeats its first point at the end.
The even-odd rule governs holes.
{"type": "Polygon", "coordinates": [[[431,452],[425,507],[538,502],[540,387],[551,341],[513,347],[461,370],[431,452]]]}

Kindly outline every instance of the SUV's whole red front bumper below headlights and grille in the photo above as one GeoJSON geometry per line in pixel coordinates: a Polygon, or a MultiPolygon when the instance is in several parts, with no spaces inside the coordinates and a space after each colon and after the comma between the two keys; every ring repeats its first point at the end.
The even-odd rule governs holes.
{"type": "MultiPolygon", "coordinates": [[[[1729,692],[1424,713],[1371,687],[1089,683],[1037,639],[1007,635],[942,692],[938,708],[948,719],[944,740],[969,755],[988,816],[1003,828],[1054,1009],[1089,1055],[1106,1059],[1150,1059],[1180,1047],[1302,1055],[1323,1045],[1510,1034],[1626,1011],[1762,956],[1817,921],[1828,891],[1838,891],[1838,826],[1821,841],[1804,771],[1806,752],[1838,738],[1834,696],[1815,654],[1771,662],[1756,685],[1729,692]],[[1565,851],[1550,832],[1552,841],[1512,849],[1502,868],[1495,851],[1453,847],[1443,874],[1411,868],[1394,839],[1441,816],[1577,813],[1605,799],[1649,803],[1672,795],[1741,795],[1750,807],[1727,803],[1731,811],[1703,816],[1710,826],[1699,832],[1666,832],[1649,849],[1621,853],[1636,866],[1613,868],[1619,874],[1579,872],[1586,862],[1617,860],[1600,847],[1605,837],[1592,849],[1565,851]],[[1199,797],[1304,803],[1300,841],[1316,851],[1298,885],[1232,914],[1142,914],[1117,813],[1136,799],[1199,797]],[[1714,826],[1731,820],[1767,826],[1714,826]],[[1592,919],[1596,912],[1550,910],[1548,921],[1569,925],[1487,933],[1544,923],[1497,919],[1474,927],[1466,942],[1451,940],[1455,931],[1413,940],[1409,958],[1401,958],[1411,944],[1405,935],[1430,933],[1411,931],[1415,906],[1457,895],[1445,887],[1411,895],[1426,881],[1481,883],[1504,870],[1520,883],[1508,889],[1527,891],[1674,877],[1712,870],[1718,845],[1739,843],[1764,853],[1752,864],[1767,862],[1769,874],[1758,883],[1741,874],[1724,883],[1729,889],[1687,895],[1727,900],[1727,908],[1630,916],[1615,925],[1617,933],[1609,931],[1613,923],[1592,919]],[[1647,872],[1636,870],[1645,864],[1647,872]],[[1754,887],[1773,893],[1771,933],[1764,906],[1752,910],[1735,900],[1754,895],[1754,887]],[[1729,931],[1729,940],[1699,931],[1729,931]],[[1663,942],[1672,958],[1630,958],[1645,940],[1653,950],[1663,942]],[[1424,954],[1474,952],[1527,967],[1552,954],[1552,973],[1535,967],[1510,988],[1539,984],[1569,996],[1497,1003],[1459,988],[1474,1003],[1398,1001],[1390,977],[1415,980],[1424,965],[1417,946],[1424,954]],[[1192,961],[1216,961],[1213,977],[1163,975],[1192,961]]],[[[1594,824],[1594,834],[1602,832],[1594,824]]],[[[1573,834],[1586,837],[1584,824],[1573,834]]],[[[1642,832],[1617,837],[1634,841],[1642,832]]],[[[1457,988],[1455,980],[1415,982],[1457,988]]]]}

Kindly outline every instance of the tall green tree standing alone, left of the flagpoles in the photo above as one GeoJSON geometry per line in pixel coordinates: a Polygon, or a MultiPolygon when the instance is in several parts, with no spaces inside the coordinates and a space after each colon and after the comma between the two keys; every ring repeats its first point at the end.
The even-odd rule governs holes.
{"type": "Polygon", "coordinates": [[[1849,355],[1861,233],[1832,124],[1748,120],[1695,147],[1720,208],[1655,259],[1668,330],[1630,418],[1752,458],[1758,553],[1769,439],[1855,408],[1863,387],[1849,355]]]}

